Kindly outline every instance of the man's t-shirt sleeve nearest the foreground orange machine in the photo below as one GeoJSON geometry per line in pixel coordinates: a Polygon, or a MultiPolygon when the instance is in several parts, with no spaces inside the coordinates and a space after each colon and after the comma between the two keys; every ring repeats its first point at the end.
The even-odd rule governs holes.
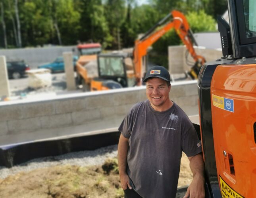
{"type": "Polygon", "coordinates": [[[182,150],[188,157],[194,156],[202,152],[201,142],[198,139],[196,129],[193,124],[183,131],[182,134],[182,150]]]}

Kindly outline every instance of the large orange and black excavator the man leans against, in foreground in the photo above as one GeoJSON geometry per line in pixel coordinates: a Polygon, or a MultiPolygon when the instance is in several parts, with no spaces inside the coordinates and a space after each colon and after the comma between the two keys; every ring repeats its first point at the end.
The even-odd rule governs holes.
{"type": "Polygon", "coordinates": [[[256,2],[227,2],[223,57],[198,76],[206,198],[256,198],[256,2]]]}

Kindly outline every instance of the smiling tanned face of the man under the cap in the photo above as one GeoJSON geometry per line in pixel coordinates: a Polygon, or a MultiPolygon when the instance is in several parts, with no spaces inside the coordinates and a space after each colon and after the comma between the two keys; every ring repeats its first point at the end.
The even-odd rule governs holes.
{"type": "Polygon", "coordinates": [[[169,92],[171,85],[167,86],[161,78],[150,78],[146,81],[146,95],[155,110],[167,108],[169,105],[169,92]]]}

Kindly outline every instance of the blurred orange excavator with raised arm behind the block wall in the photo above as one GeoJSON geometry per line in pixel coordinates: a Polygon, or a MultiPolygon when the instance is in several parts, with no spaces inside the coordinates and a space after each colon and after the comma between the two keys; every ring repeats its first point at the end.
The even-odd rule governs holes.
{"type": "Polygon", "coordinates": [[[196,41],[193,38],[187,19],[181,12],[173,10],[148,30],[142,38],[135,41],[133,54],[120,52],[99,54],[97,56],[98,78],[90,81],[90,90],[141,86],[146,70],[147,49],[171,29],[175,29],[194,59],[195,64],[187,74],[192,79],[196,79],[200,68],[206,61],[204,57],[196,54],[193,47],[196,41]]]}

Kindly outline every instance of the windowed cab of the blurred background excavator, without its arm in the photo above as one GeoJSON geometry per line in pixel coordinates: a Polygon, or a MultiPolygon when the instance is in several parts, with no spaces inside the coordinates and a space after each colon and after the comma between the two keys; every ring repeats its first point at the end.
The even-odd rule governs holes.
{"type": "Polygon", "coordinates": [[[91,81],[91,91],[135,86],[134,67],[129,53],[102,53],[97,61],[99,77],[91,81]]]}

